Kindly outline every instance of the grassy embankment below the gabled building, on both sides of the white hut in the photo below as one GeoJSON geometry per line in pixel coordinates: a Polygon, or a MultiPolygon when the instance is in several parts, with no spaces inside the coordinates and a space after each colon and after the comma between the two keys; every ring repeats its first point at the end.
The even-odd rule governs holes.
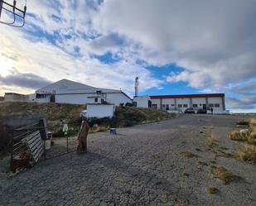
{"type": "MultiPolygon", "coordinates": [[[[85,105],[67,103],[0,103],[0,118],[17,114],[41,114],[47,118],[49,129],[56,131],[60,129],[60,119],[67,122],[70,127],[80,127],[80,111],[84,109],[86,109],[85,105]]],[[[90,122],[90,126],[97,123],[104,129],[108,127],[131,127],[136,124],[157,122],[171,117],[174,116],[152,108],[117,107],[115,117],[112,119],[94,119],[90,122]]]]}

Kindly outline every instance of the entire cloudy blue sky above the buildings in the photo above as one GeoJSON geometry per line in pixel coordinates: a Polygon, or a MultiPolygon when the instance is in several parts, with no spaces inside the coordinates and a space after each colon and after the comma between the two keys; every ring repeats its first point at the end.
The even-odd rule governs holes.
{"type": "Polygon", "coordinates": [[[255,113],[255,19],[254,0],[27,0],[25,26],[0,24],[0,95],[70,79],[133,97],[138,76],[140,95],[225,93],[255,113]]]}

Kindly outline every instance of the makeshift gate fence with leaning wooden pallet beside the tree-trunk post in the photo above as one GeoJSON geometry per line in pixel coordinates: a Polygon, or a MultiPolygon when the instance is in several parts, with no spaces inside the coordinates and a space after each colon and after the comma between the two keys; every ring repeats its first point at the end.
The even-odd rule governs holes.
{"type": "MultiPolygon", "coordinates": [[[[69,125],[77,128],[79,125],[69,125]]],[[[51,129],[51,128],[50,128],[51,129]]],[[[76,150],[77,136],[52,137],[46,121],[41,119],[27,127],[13,129],[11,141],[11,170],[35,165],[38,161],[55,158],[76,150]]],[[[60,132],[61,133],[61,132],[60,132]]]]}

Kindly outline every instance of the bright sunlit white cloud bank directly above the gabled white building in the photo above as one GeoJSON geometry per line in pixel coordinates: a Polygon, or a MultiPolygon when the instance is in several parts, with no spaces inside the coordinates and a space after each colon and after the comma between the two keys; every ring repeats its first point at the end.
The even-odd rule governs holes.
{"type": "MultiPolygon", "coordinates": [[[[136,76],[140,77],[141,91],[157,88],[162,84],[161,80],[155,79],[151,72],[142,65],[130,64],[126,60],[118,60],[114,64],[104,64],[96,58],[91,58],[88,51],[80,56],[75,56],[59,46],[53,45],[46,38],[41,37],[39,40],[31,41],[26,37],[12,28],[2,31],[0,54],[4,55],[0,55],[0,62],[1,58],[4,59],[2,60],[3,65],[0,67],[4,75],[1,72],[1,84],[14,86],[16,82],[17,86],[23,86],[24,92],[26,92],[27,88],[34,85],[31,83],[32,79],[44,79],[45,85],[60,79],[70,79],[95,87],[121,88],[129,94],[133,94],[133,82],[136,76]],[[18,60],[13,60],[13,53],[18,56],[18,60]],[[10,64],[7,65],[8,61],[10,64]],[[13,71],[13,68],[17,69],[13,71]],[[26,75],[22,74],[29,74],[27,78],[30,82],[25,84],[26,81],[23,80],[26,75]]],[[[87,41],[80,41],[80,47],[88,44],[87,41]]],[[[100,51],[99,46],[95,50],[100,51]]],[[[37,84],[36,89],[39,89],[41,85],[37,84]]],[[[6,92],[0,90],[2,93],[6,92]]]]}

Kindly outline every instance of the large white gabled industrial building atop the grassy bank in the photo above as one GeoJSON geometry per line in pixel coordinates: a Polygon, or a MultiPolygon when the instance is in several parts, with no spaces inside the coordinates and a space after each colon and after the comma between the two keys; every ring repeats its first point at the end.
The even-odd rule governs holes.
{"type": "Polygon", "coordinates": [[[36,93],[30,96],[30,101],[75,104],[112,103],[116,106],[120,103],[132,103],[132,99],[122,90],[95,88],[68,79],[61,79],[36,90],[36,93]]]}

